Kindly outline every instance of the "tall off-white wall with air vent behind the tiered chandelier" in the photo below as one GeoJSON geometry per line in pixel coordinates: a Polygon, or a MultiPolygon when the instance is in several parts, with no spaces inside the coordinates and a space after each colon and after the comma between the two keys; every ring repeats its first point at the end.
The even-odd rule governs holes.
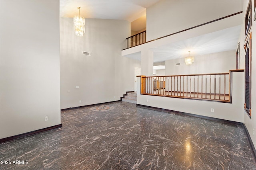
{"type": "Polygon", "coordinates": [[[60,18],[61,109],[120,100],[134,90],[134,67],[140,67],[140,61],[121,57],[130,23],[102,19],[85,23],[85,35],[77,37],[73,19],[60,18]]]}

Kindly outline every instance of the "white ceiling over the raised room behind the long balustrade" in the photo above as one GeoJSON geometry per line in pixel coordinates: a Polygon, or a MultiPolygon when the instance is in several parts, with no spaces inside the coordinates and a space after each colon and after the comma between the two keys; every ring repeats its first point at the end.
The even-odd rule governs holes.
{"type": "MultiPolygon", "coordinates": [[[[190,56],[198,56],[236,50],[240,31],[241,25],[238,25],[153,48],[154,63],[188,57],[188,51],[191,51],[190,56]]],[[[140,56],[141,53],[134,53],[125,57],[140,60],[140,56]]]]}

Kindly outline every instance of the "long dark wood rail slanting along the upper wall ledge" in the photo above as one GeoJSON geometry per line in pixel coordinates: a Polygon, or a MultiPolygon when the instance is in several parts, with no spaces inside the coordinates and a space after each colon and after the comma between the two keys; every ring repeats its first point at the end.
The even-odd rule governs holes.
{"type": "MultiPolygon", "coordinates": [[[[196,27],[200,27],[200,26],[203,26],[203,25],[212,23],[212,22],[216,22],[216,21],[219,21],[219,20],[223,20],[223,19],[225,19],[225,18],[232,17],[232,16],[235,16],[235,15],[237,15],[237,14],[241,14],[242,12],[243,12],[243,11],[236,12],[236,13],[234,13],[234,14],[231,14],[231,15],[228,15],[228,16],[224,16],[224,17],[218,18],[218,19],[216,19],[216,20],[212,20],[212,21],[209,21],[209,22],[206,22],[206,23],[202,23],[202,24],[200,24],[200,25],[196,25],[196,26],[194,26],[194,27],[190,27],[190,28],[183,29],[183,30],[178,31],[178,32],[175,32],[175,33],[171,33],[171,34],[165,35],[165,36],[163,36],[163,37],[159,37],[159,38],[156,38],[156,39],[152,39],[152,40],[150,40],[150,41],[145,41],[144,43],[149,43],[149,42],[152,42],[152,41],[156,41],[156,40],[158,40],[158,39],[162,39],[162,38],[165,38],[165,37],[169,37],[169,36],[171,36],[171,35],[174,35],[174,34],[177,34],[177,33],[181,33],[181,32],[184,32],[184,31],[188,31],[188,30],[194,29],[194,28],[196,28],[196,27]]],[[[128,37],[128,38],[130,38],[130,37],[128,37]]],[[[141,43],[141,44],[144,44],[144,43],[141,43]]],[[[134,46],[132,46],[132,47],[135,47],[135,46],[138,46],[138,45],[141,45],[141,44],[137,44],[137,45],[134,45],[134,46]]],[[[127,48],[126,48],[126,49],[129,49],[129,48],[131,48],[131,47],[129,47],[129,46],[127,45],[127,48]]],[[[126,49],[122,49],[122,50],[126,50],[126,49]]]]}

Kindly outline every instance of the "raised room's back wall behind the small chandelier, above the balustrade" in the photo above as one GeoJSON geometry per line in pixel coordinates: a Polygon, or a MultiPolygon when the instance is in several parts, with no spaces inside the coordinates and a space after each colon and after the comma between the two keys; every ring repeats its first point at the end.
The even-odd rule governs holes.
{"type": "Polygon", "coordinates": [[[165,69],[166,75],[225,73],[236,69],[236,51],[195,56],[192,65],[186,65],[184,58],[168,60],[165,69]]]}

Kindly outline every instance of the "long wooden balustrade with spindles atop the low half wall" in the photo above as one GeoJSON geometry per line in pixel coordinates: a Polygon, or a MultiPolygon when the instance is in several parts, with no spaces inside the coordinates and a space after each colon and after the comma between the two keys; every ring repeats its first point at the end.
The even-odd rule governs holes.
{"type": "Polygon", "coordinates": [[[229,73],[141,76],[141,94],[231,103],[229,73]]]}

